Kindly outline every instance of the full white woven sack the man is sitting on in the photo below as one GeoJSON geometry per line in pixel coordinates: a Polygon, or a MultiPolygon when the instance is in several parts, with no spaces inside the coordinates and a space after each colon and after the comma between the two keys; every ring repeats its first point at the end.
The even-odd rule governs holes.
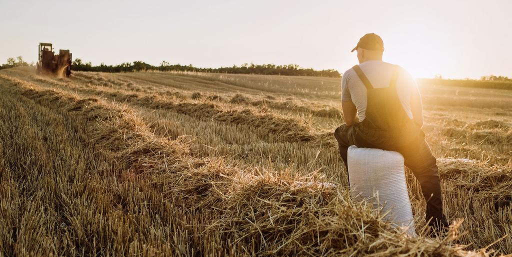
{"type": "Polygon", "coordinates": [[[411,201],[407,192],[403,156],[373,148],[348,148],[349,183],[354,200],[368,199],[374,207],[390,211],[385,219],[409,227],[416,236],[411,201]]]}

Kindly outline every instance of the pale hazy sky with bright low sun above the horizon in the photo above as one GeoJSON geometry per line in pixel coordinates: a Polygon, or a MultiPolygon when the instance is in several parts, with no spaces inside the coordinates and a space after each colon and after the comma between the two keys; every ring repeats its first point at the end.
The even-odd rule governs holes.
{"type": "Polygon", "coordinates": [[[294,63],[343,73],[366,33],[415,77],[512,77],[509,0],[0,0],[0,63],[35,62],[39,42],[51,42],[93,65],[294,63]]]}

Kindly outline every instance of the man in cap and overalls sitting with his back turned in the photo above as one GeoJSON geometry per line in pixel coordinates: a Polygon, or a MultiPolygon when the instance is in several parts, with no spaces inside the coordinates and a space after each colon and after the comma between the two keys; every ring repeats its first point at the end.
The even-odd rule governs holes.
{"type": "Polygon", "coordinates": [[[449,223],[443,214],[436,158],[421,130],[421,98],[414,78],[399,66],[382,61],[384,44],[374,33],[361,37],[354,51],[359,65],[342,77],[345,124],[334,132],[345,167],[348,170],[350,145],[402,154],[421,185],[429,226],[445,231],[449,223]]]}

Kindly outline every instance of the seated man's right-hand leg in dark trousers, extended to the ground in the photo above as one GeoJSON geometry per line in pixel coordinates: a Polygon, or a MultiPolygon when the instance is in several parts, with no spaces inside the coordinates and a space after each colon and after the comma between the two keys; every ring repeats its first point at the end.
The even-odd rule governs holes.
{"type": "Polygon", "coordinates": [[[418,143],[404,147],[399,151],[419,184],[426,201],[426,220],[430,226],[447,227],[449,223],[443,214],[441,198],[441,182],[436,158],[432,155],[430,146],[424,139],[418,143]]]}

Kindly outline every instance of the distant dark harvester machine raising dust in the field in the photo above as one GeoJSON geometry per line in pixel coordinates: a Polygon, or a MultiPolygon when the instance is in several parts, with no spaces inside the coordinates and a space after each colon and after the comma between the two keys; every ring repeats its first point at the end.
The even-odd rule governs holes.
{"type": "Polygon", "coordinates": [[[52,44],[39,43],[39,59],[36,65],[37,75],[69,77],[71,75],[71,53],[69,50],[53,52],[52,44]]]}

